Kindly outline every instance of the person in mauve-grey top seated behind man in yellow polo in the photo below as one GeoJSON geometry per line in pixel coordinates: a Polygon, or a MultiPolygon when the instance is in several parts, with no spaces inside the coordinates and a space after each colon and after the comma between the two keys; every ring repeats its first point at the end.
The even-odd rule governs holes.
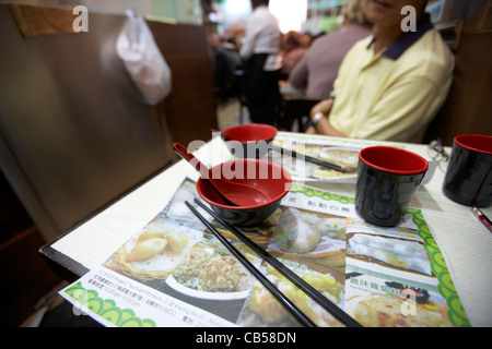
{"type": "Polygon", "coordinates": [[[328,98],[343,57],[356,41],[372,34],[363,0],[348,0],[342,16],[340,31],[317,38],[289,75],[291,85],[305,89],[307,98],[328,98]]]}

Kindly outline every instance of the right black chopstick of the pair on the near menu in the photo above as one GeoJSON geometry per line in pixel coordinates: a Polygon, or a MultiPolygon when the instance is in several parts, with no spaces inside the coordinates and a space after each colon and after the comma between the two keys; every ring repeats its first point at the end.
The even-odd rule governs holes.
{"type": "Polygon", "coordinates": [[[255,251],[259,256],[261,256],[265,261],[271,264],[277,270],[279,270],[283,276],[285,276],[289,280],[291,280],[294,285],[296,285],[300,289],[302,289],[306,294],[313,298],[319,305],[321,305],[327,312],[329,312],[332,316],[335,316],[338,321],[340,321],[343,325],[349,327],[362,327],[362,325],[356,322],[352,316],[347,314],[343,310],[341,310],[337,304],[330,302],[325,296],[323,296],[317,289],[307,284],[304,279],[302,279],[297,274],[292,272],[285,265],[280,263],[276,257],[273,257],[270,253],[261,249],[250,239],[248,239],[241,230],[238,230],[234,225],[226,222],[221,217],[219,217],[212,209],[207,207],[200,200],[195,198],[195,202],[200,205],[208,214],[213,216],[222,226],[229,229],[234,236],[243,241],[248,248],[255,251]]]}

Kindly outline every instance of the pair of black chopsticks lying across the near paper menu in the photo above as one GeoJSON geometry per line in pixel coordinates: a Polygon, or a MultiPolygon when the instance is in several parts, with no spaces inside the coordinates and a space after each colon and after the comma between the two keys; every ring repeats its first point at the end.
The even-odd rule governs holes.
{"type": "MultiPolygon", "coordinates": [[[[352,318],[349,314],[347,314],[343,310],[341,310],[338,305],[333,304],[331,301],[329,301],[325,296],[323,296],[318,290],[316,290],[314,287],[312,287],[309,284],[307,284],[304,279],[302,279],[297,274],[292,272],[290,268],[288,268],[285,265],[283,265],[281,262],[279,262],[276,257],[273,257],[271,254],[269,254],[267,251],[261,249],[259,245],[257,245],[255,242],[249,240],[243,232],[241,232],[236,227],[233,225],[224,221],[222,218],[220,218],[212,209],[207,207],[198,198],[195,198],[195,202],[200,205],[207,213],[209,213],[211,216],[213,216],[222,226],[224,226],[226,229],[229,229],[234,236],[239,239],[242,242],[244,242],[248,248],[250,248],[255,253],[257,253],[259,256],[261,256],[266,262],[268,262],[270,265],[272,265],[278,272],[280,272],[283,276],[285,276],[291,282],[296,285],[300,289],[302,289],[307,296],[309,296],[313,300],[315,300],[320,306],[323,306],[327,312],[329,312],[333,317],[336,317],[338,321],[340,321],[343,325],[349,327],[362,327],[361,324],[359,324],[354,318],[352,318]]],[[[216,231],[215,228],[211,226],[207,219],[204,219],[203,216],[201,216],[195,207],[192,207],[188,202],[186,202],[187,206],[194,212],[194,214],[206,225],[206,227],[223,242],[227,249],[246,266],[248,264],[254,270],[249,269],[248,266],[246,266],[251,274],[254,274],[272,293],[273,296],[279,299],[279,301],[300,321],[301,324],[305,326],[315,326],[315,324],[301,311],[298,310],[295,304],[293,304],[274,285],[272,285],[267,277],[261,274],[253,264],[247,261],[243,254],[237,252],[235,248],[225,240],[222,234],[216,231]],[[234,249],[238,255],[236,255],[232,249],[234,249]],[[270,284],[267,286],[266,284],[270,284]]]]}

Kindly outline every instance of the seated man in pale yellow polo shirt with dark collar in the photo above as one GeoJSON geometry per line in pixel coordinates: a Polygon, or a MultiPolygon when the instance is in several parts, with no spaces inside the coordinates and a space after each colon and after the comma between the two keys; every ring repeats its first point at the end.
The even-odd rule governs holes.
{"type": "Polygon", "coordinates": [[[454,70],[453,53],[425,14],[426,3],[365,0],[374,35],[356,43],[347,53],[332,98],[312,109],[312,127],[306,132],[422,141],[446,99],[454,70]],[[401,9],[406,5],[415,10],[414,32],[403,31],[407,16],[401,9]]]}

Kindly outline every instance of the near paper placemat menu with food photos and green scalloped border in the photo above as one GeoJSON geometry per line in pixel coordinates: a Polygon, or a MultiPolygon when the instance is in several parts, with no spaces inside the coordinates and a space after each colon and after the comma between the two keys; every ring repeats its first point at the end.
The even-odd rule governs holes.
{"type": "MultiPolygon", "coordinates": [[[[161,213],[60,294],[107,326],[298,325],[189,210],[195,197],[187,178],[161,213]]],[[[341,326],[196,206],[313,322],[341,326]]],[[[272,216],[242,231],[364,326],[470,326],[421,209],[398,228],[375,227],[352,197],[294,183],[272,216]]]]}

